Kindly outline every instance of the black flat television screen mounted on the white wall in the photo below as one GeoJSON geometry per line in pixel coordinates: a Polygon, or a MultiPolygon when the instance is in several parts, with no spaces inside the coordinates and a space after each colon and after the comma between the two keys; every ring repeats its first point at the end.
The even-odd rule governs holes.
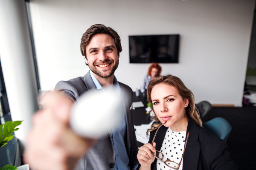
{"type": "Polygon", "coordinates": [[[130,63],[177,63],[179,34],[129,36],[130,63]]]}

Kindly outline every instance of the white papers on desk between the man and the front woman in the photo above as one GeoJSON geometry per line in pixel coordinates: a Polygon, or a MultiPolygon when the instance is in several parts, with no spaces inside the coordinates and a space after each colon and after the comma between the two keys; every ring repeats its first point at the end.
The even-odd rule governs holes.
{"type": "Polygon", "coordinates": [[[150,129],[151,125],[153,124],[154,120],[146,125],[135,126],[136,129],[135,134],[138,142],[143,144],[148,143],[149,136],[147,136],[147,130],[150,129]]]}

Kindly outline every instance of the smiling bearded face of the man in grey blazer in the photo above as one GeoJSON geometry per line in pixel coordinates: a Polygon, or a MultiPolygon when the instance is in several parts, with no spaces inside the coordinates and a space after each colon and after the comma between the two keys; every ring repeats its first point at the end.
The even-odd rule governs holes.
{"type": "Polygon", "coordinates": [[[114,39],[108,34],[95,34],[86,46],[90,70],[102,78],[110,77],[118,67],[119,55],[114,39]]]}

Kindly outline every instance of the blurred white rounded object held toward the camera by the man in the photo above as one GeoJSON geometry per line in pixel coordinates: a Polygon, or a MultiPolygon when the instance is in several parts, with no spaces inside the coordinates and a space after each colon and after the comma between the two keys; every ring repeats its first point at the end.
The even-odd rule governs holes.
{"type": "Polygon", "coordinates": [[[119,126],[122,100],[113,90],[87,92],[74,103],[71,129],[79,136],[98,138],[119,126]]]}

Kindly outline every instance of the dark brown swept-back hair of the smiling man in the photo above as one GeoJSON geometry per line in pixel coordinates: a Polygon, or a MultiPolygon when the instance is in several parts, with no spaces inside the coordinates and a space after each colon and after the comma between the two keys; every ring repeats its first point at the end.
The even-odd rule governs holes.
{"type": "Polygon", "coordinates": [[[115,30],[113,30],[110,27],[106,27],[103,24],[95,24],[91,26],[87,31],[83,34],[81,38],[81,44],[80,44],[80,50],[82,55],[87,59],[86,57],[86,50],[85,47],[89,44],[91,37],[95,34],[108,34],[110,35],[116,44],[117,48],[117,55],[122,51],[122,46],[121,46],[121,39],[119,35],[116,33],[115,30]]]}

